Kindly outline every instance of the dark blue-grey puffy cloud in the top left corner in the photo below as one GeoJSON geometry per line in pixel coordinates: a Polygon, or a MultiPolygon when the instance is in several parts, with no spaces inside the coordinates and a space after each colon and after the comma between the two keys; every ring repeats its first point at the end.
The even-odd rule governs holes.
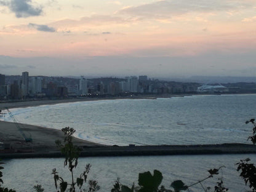
{"type": "Polygon", "coordinates": [[[42,14],[42,7],[33,6],[31,0],[0,1],[0,5],[9,7],[9,9],[15,13],[17,18],[38,16],[42,14]]]}

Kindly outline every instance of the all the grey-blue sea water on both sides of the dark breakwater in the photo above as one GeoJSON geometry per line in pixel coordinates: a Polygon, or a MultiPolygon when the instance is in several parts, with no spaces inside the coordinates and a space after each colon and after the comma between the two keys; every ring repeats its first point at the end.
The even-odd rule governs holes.
{"type": "MultiPolygon", "coordinates": [[[[244,122],[255,118],[255,103],[256,95],[194,95],[61,103],[11,111],[18,122],[54,129],[74,127],[76,137],[92,142],[192,145],[249,143],[247,137],[252,134],[252,126],[244,122]]],[[[9,116],[3,120],[11,121],[9,116]]],[[[161,170],[166,186],[178,179],[190,185],[206,177],[207,170],[226,166],[218,175],[223,176],[225,186],[230,191],[246,191],[235,163],[247,157],[256,162],[255,154],[81,158],[78,172],[90,162],[90,177],[98,180],[101,191],[110,191],[118,177],[122,183],[132,185],[137,183],[138,173],[147,170],[161,170]]],[[[17,191],[33,191],[37,183],[46,191],[55,191],[50,174],[54,167],[69,178],[63,159],[12,159],[4,167],[5,184],[17,191]]],[[[214,186],[217,178],[206,186],[214,186]]],[[[194,191],[202,188],[195,186],[194,191]]]]}

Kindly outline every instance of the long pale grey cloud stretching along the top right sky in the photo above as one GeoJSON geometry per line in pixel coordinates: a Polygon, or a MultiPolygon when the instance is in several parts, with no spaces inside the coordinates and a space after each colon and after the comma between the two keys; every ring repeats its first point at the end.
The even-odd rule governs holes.
{"type": "Polygon", "coordinates": [[[119,10],[119,14],[128,14],[139,17],[166,18],[189,12],[216,12],[241,10],[253,7],[255,2],[239,0],[162,0],[140,6],[129,6],[119,10]]]}

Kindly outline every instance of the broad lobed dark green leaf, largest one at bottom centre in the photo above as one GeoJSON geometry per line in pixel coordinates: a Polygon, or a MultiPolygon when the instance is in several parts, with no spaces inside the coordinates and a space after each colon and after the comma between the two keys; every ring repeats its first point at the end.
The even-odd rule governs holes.
{"type": "Polygon", "coordinates": [[[151,175],[149,171],[138,174],[138,185],[142,186],[142,191],[157,191],[161,182],[162,174],[159,170],[154,170],[154,175],[151,175]]]}

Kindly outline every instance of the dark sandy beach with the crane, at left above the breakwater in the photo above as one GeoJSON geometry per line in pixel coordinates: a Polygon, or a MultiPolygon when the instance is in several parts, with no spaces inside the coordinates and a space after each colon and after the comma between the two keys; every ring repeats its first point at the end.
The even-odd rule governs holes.
{"type": "MultiPolygon", "coordinates": [[[[26,124],[19,124],[19,126],[26,137],[32,138],[32,142],[25,142],[25,138],[23,138],[13,122],[0,121],[0,142],[10,145],[11,148],[6,150],[6,153],[48,153],[50,151],[59,151],[55,140],[63,141],[64,134],[61,130],[26,124]]],[[[78,146],[101,146],[97,143],[87,142],[78,138],[74,138],[74,144],[78,146]]]]}

